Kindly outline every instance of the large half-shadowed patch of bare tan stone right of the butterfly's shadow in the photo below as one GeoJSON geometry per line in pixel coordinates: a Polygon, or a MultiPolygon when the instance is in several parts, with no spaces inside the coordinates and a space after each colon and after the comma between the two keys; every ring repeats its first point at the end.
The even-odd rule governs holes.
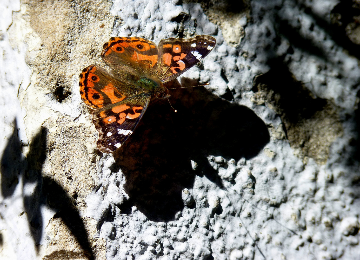
{"type": "Polygon", "coordinates": [[[315,98],[284,64],[272,64],[272,67],[269,72],[256,77],[254,88],[257,89],[251,100],[257,105],[266,102],[279,114],[295,154],[325,164],[330,146],[343,134],[337,112],[340,108],[330,100],[315,98]]]}

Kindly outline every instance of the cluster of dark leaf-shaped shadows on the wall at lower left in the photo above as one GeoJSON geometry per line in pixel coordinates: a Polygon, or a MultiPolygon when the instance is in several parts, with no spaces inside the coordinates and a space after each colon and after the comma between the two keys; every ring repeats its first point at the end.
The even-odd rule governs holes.
{"type": "MultiPolygon", "coordinates": [[[[94,259],[93,251],[88,241],[87,232],[80,215],[72,203],[72,198],[54,179],[42,177],[41,169],[46,159],[47,129],[42,127],[30,142],[26,158],[22,157],[22,144],[18,138],[17,124],[14,121],[14,131],[1,157],[1,192],[3,197],[10,197],[23,178],[24,207],[30,225],[31,235],[36,247],[42,237],[44,220],[41,216],[41,205],[48,202],[57,209],[54,218],[61,218],[70,229],[89,259],[94,259]]],[[[39,249],[39,248],[37,248],[39,249]]]]}

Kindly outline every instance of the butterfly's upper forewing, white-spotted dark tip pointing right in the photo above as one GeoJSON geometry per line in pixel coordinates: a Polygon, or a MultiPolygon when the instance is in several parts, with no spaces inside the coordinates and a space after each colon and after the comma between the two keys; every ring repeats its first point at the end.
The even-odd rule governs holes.
{"type": "Polygon", "coordinates": [[[157,77],[162,83],[175,79],[208,55],[215,44],[215,38],[208,35],[188,40],[169,38],[160,41],[157,77]]]}

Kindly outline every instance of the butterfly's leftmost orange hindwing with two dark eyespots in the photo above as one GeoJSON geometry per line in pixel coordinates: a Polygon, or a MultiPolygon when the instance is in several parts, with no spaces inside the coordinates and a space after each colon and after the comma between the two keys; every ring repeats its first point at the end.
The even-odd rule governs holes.
{"type": "Polygon", "coordinates": [[[95,65],[82,70],[79,85],[82,101],[93,109],[120,102],[131,91],[125,83],[95,65]]]}

